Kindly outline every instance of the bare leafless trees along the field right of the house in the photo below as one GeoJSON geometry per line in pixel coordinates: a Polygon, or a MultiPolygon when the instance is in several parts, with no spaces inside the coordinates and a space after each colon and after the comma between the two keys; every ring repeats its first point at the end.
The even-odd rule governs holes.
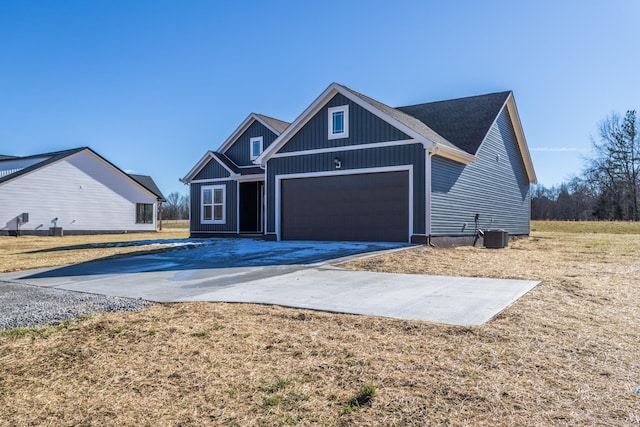
{"type": "Polygon", "coordinates": [[[557,187],[536,185],[531,218],[540,220],[640,220],[640,123],[635,110],[612,113],[591,141],[582,173],[557,187]]]}

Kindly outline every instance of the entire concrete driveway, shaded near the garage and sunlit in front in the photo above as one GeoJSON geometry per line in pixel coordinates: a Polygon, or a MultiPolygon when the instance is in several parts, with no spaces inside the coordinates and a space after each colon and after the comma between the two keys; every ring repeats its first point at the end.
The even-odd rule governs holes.
{"type": "MultiPolygon", "coordinates": [[[[148,244],[154,244],[153,242],[148,244]]],[[[389,243],[176,241],[157,254],[0,275],[0,281],[158,302],[224,301],[456,325],[491,319],[539,282],[343,270],[389,243]]]]}

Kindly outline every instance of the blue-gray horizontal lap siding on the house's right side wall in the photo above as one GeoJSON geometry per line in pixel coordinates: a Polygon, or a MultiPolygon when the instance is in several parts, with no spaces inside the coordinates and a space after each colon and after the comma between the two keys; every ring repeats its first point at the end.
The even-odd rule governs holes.
{"type": "Polygon", "coordinates": [[[529,234],[530,184],[506,109],[489,130],[477,157],[462,165],[433,156],[432,235],[474,235],[476,214],[479,229],[529,234]]]}

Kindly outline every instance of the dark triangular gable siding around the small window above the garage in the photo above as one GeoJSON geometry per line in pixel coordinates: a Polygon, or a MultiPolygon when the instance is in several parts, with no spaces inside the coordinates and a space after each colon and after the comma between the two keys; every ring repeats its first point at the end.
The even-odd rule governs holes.
{"type": "Polygon", "coordinates": [[[278,152],[398,141],[410,137],[341,94],[336,94],[278,152]],[[349,105],[349,137],[328,139],[328,109],[349,105]]]}

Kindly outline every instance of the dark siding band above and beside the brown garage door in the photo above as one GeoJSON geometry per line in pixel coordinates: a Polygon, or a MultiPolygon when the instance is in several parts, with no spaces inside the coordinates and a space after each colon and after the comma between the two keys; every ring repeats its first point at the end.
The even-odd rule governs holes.
{"type": "MultiPolygon", "coordinates": [[[[267,234],[275,233],[275,177],[277,175],[333,172],[336,175],[350,169],[387,166],[413,167],[413,233],[425,233],[425,150],[422,144],[377,147],[365,150],[316,153],[291,157],[271,158],[267,164],[267,234]],[[334,158],[342,163],[334,166],[334,158]]],[[[372,188],[371,197],[375,197],[372,188]]]]}

